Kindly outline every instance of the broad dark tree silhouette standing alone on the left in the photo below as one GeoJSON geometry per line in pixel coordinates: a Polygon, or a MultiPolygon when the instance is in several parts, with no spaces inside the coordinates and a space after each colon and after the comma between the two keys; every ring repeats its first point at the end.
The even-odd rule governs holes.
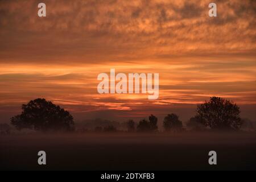
{"type": "Polygon", "coordinates": [[[11,124],[17,129],[73,130],[73,117],[60,106],[38,98],[22,105],[22,113],[11,118],[11,124]]]}

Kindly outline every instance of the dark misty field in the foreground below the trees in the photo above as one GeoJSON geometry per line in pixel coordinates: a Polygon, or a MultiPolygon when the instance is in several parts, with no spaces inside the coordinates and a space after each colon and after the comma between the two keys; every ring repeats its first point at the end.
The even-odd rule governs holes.
{"type": "Polygon", "coordinates": [[[0,138],[0,169],[256,169],[255,133],[29,134],[0,138]],[[38,165],[38,151],[47,165],[38,165]],[[217,152],[217,165],[208,152],[217,152]]]}

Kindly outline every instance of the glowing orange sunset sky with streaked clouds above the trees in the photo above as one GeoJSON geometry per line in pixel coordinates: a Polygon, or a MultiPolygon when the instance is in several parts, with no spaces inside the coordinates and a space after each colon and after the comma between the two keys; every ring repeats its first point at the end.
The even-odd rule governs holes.
{"type": "Polygon", "coordinates": [[[256,120],[256,1],[0,1],[0,122],[46,98],[75,120],[177,113],[212,96],[256,120]],[[38,3],[46,3],[46,17],[38,3]],[[209,3],[217,17],[209,17],[209,3]],[[159,73],[159,98],[98,94],[97,76],[159,73]]]}

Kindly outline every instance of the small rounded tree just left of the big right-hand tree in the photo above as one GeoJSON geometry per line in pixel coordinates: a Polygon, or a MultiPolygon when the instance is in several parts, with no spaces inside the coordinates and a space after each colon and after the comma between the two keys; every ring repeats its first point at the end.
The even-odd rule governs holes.
{"type": "Polygon", "coordinates": [[[168,114],[164,117],[163,126],[166,131],[180,131],[182,122],[177,114],[168,114]]]}

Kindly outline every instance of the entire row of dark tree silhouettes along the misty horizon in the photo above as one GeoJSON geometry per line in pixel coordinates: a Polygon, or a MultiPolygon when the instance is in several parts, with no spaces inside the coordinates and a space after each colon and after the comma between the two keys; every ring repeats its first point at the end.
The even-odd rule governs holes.
{"type": "MultiPolygon", "coordinates": [[[[158,130],[158,118],[150,115],[148,119],[139,121],[137,131],[158,130]]],[[[54,105],[51,101],[43,98],[22,105],[22,113],[11,118],[11,124],[17,129],[48,130],[74,130],[73,117],[68,111],[54,105]]],[[[211,97],[204,104],[198,105],[195,117],[191,118],[189,125],[204,126],[210,129],[238,130],[242,125],[240,108],[232,101],[220,97],[211,97]]],[[[127,122],[128,131],[135,131],[135,122],[127,122]]],[[[163,127],[166,131],[179,131],[183,124],[178,115],[168,114],[164,117],[163,127]]],[[[100,130],[100,128],[98,129],[100,130]]],[[[102,129],[101,129],[102,130],[102,129]]],[[[105,128],[106,131],[114,131],[113,127],[105,128]]]]}

